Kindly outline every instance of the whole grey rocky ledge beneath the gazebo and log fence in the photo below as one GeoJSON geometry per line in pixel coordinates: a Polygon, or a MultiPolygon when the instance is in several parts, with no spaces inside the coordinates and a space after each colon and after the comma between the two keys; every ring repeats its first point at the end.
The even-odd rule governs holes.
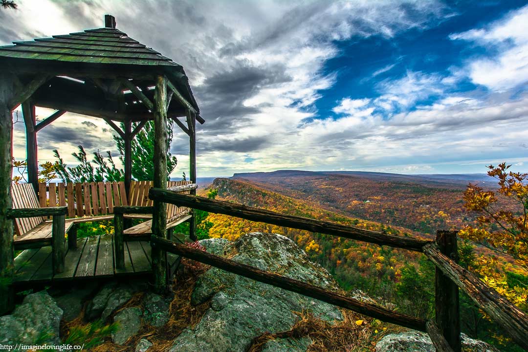
{"type": "MultiPolygon", "coordinates": [[[[208,239],[200,244],[206,251],[236,262],[338,290],[332,276],[320,265],[310,262],[306,253],[285,236],[249,233],[235,242],[208,239]]],[[[177,311],[171,311],[173,297],[148,292],[145,282],[109,282],[99,287],[89,283],[67,291],[50,289],[49,292],[29,294],[11,315],[0,317],[0,345],[56,345],[61,341],[60,321],[83,317],[86,324],[96,320],[103,324],[117,323],[117,329],[112,330],[107,339],[115,344],[114,347],[124,346],[118,346],[124,350],[153,352],[159,350],[163,340],[163,350],[171,352],[245,352],[263,335],[290,330],[298,321],[296,312],[309,312],[312,317],[320,319],[318,321],[333,327],[343,320],[341,310],[332,305],[216,268],[198,276],[191,294],[191,306],[207,302],[209,308],[197,324],[184,328],[176,338],[144,334],[146,328],[163,331],[171,323],[171,317],[178,319],[177,311]]],[[[361,291],[350,294],[356,299],[375,303],[361,291]]],[[[188,305],[188,298],[185,300],[188,305]]],[[[370,329],[363,320],[360,321],[355,324],[370,329]]],[[[355,325],[354,329],[357,329],[355,325]]],[[[310,345],[314,341],[302,335],[306,334],[298,334],[300,337],[297,338],[280,336],[263,340],[259,348],[263,352],[312,350],[310,345]]],[[[467,336],[463,336],[463,344],[474,352],[498,352],[494,347],[467,336]]],[[[434,348],[426,334],[407,331],[384,336],[375,350],[433,352],[434,348]]]]}

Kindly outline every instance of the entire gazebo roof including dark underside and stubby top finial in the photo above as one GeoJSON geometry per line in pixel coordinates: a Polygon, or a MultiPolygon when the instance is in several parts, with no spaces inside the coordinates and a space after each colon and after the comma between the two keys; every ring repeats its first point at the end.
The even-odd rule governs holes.
{"type": "Polygon", "coordinates": [[[21,85],[48,76],[32,94],[36,106],[117,121],[152,119],[137,94],[120,101],[116,93],[131,84],[153,101],[154,78],[164,75],[181,94],[170,100],[167,114],[182,117],[191,108],[204,122],[182,65],[118,30],[111,15],[102,28],[0,46],[0,65],[17,74],[21,85]]]}

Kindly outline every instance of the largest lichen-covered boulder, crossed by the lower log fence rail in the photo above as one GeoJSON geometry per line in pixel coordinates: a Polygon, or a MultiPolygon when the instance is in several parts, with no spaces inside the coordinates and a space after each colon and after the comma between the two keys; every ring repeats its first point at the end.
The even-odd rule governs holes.
{"type": "MultiPolygon", "coordinates": [[[[234,251],[231,259],[236,262],[324,289],[337,289],[332,276],[320,265],[310,262],[306,253],[285,236],[250,233],[235,242],[209,239],[201,243],[206,250],[219,255],[232,255],[234,251]]],[[[211,300],[211,309],[196,326],[184,330],[169,351],[243,352],[253,338],[264,332],[289,330],[297,319],[294,311],[310,311],[327,321],[343,319],[340,310],[332,305],[216,268],[201,275],[191,297],[193,305],[208,300],[211,300]]],[[[277,342],[282,343],[292,345],[295,341],[277,342]]],[[[267,348],[281,350],[277,344],[267,348]]]]}

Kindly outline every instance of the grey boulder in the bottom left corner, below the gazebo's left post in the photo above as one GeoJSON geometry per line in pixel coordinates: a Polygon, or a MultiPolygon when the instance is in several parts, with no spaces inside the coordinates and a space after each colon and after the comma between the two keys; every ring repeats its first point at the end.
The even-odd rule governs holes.
{"type": "Polygon", "coordinates": [[[58,345],[62,313],[48,292],[28,294],[11,315],[0,317],[0,345],[58,345]]]}

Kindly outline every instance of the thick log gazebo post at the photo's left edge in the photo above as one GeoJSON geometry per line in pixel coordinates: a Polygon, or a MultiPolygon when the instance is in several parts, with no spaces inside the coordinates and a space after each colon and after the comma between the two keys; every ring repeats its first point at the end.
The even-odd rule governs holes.
{"type": "Polygon", "coordinates": [[[7,217],[12,207],[12,137],[13,117],[9,107],[13,99],[14,78],[0,71],[0,315],[13,309],[14,294],[10,282],[13,280],[13,220],[7,217]]]}

